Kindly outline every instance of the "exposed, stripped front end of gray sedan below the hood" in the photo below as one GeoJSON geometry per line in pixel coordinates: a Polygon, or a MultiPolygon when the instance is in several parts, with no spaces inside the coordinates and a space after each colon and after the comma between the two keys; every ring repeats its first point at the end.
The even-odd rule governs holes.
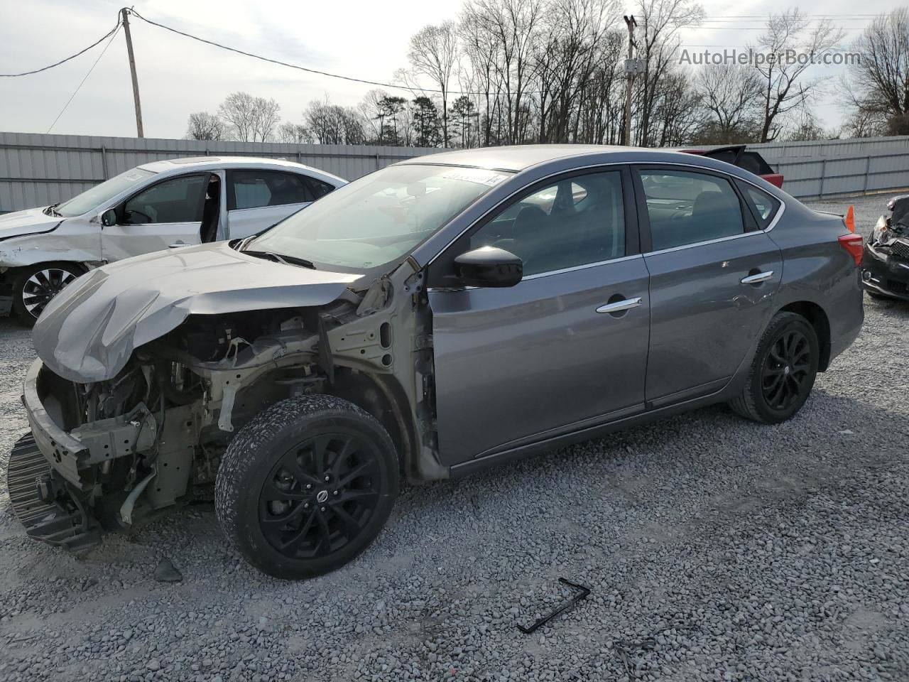
{"type": "Polygon", "coordinates": [[[320,306],[221,314],[187,306],[175,328],[97,381],[36,360],[23,396],[31,434],[9,466],[28,535],[83,549],[104,531],[154,519],[191,499],[194,486],[214,483],[226,446],[254,416],[306,394],[344,397],[379,419],[406,476],[447,476],[435,456],[421,282],[405,262],[320,306]]]}

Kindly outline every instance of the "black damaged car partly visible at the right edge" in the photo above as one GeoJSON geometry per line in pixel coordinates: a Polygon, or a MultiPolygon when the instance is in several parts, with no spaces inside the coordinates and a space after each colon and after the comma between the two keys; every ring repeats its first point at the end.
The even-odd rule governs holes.
{"type": "Polygon", "coordinates": [[[862,284],[873,296],[909,300],[909,195],[887,207],[864,246],[862,284]]]}

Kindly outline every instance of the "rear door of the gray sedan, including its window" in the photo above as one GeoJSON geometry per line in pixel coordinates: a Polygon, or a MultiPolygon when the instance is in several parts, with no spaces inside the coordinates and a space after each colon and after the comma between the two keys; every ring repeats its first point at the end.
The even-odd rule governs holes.
{"type": "Polygon", "coordinates": [[[783,261],[729,176],[678,165],[634,175],[650,272],[645,396],[660,407],[734,375],[773,312],[783,261]]]}

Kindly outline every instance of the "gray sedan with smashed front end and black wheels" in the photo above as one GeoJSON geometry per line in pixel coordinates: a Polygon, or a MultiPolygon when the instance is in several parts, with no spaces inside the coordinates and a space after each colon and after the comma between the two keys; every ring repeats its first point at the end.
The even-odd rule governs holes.
{"type": "Polygon", "coordinates": [[[35,326],[10,497],[68,549],[215,483],[274,576],[462,476],[711,403],[793,416],[863,321],[861,237],[732,165],[624,147],[424,156],[259,236],[102,266],[35,326]]]}

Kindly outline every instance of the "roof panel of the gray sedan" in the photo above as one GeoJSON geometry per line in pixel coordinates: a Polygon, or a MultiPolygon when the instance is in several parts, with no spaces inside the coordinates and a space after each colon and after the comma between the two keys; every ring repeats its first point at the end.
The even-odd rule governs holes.
{"type": "MultiPolygon", "coordinates": [[[[514,145],[492,146],[479,149],[459,149],[441,154],[415,156],[400,162],[401,164],[414,165],[463,165],[490,170],[504,170],[520,172],[534,165],[544,164],[555,159],[581,157],[585,155],[624,155],[623,161],[630,162],[629,154],[634,155],[634,161],[657,163],[660,161],[684,158],[684,162],[691,165],[697,158],[694,155],[671,152],[665,149],[648,149],[646,147],[616,146],[616,145],[514,145]]],[[[616,161],[620,159],[616,158],[616,161]]]]}

